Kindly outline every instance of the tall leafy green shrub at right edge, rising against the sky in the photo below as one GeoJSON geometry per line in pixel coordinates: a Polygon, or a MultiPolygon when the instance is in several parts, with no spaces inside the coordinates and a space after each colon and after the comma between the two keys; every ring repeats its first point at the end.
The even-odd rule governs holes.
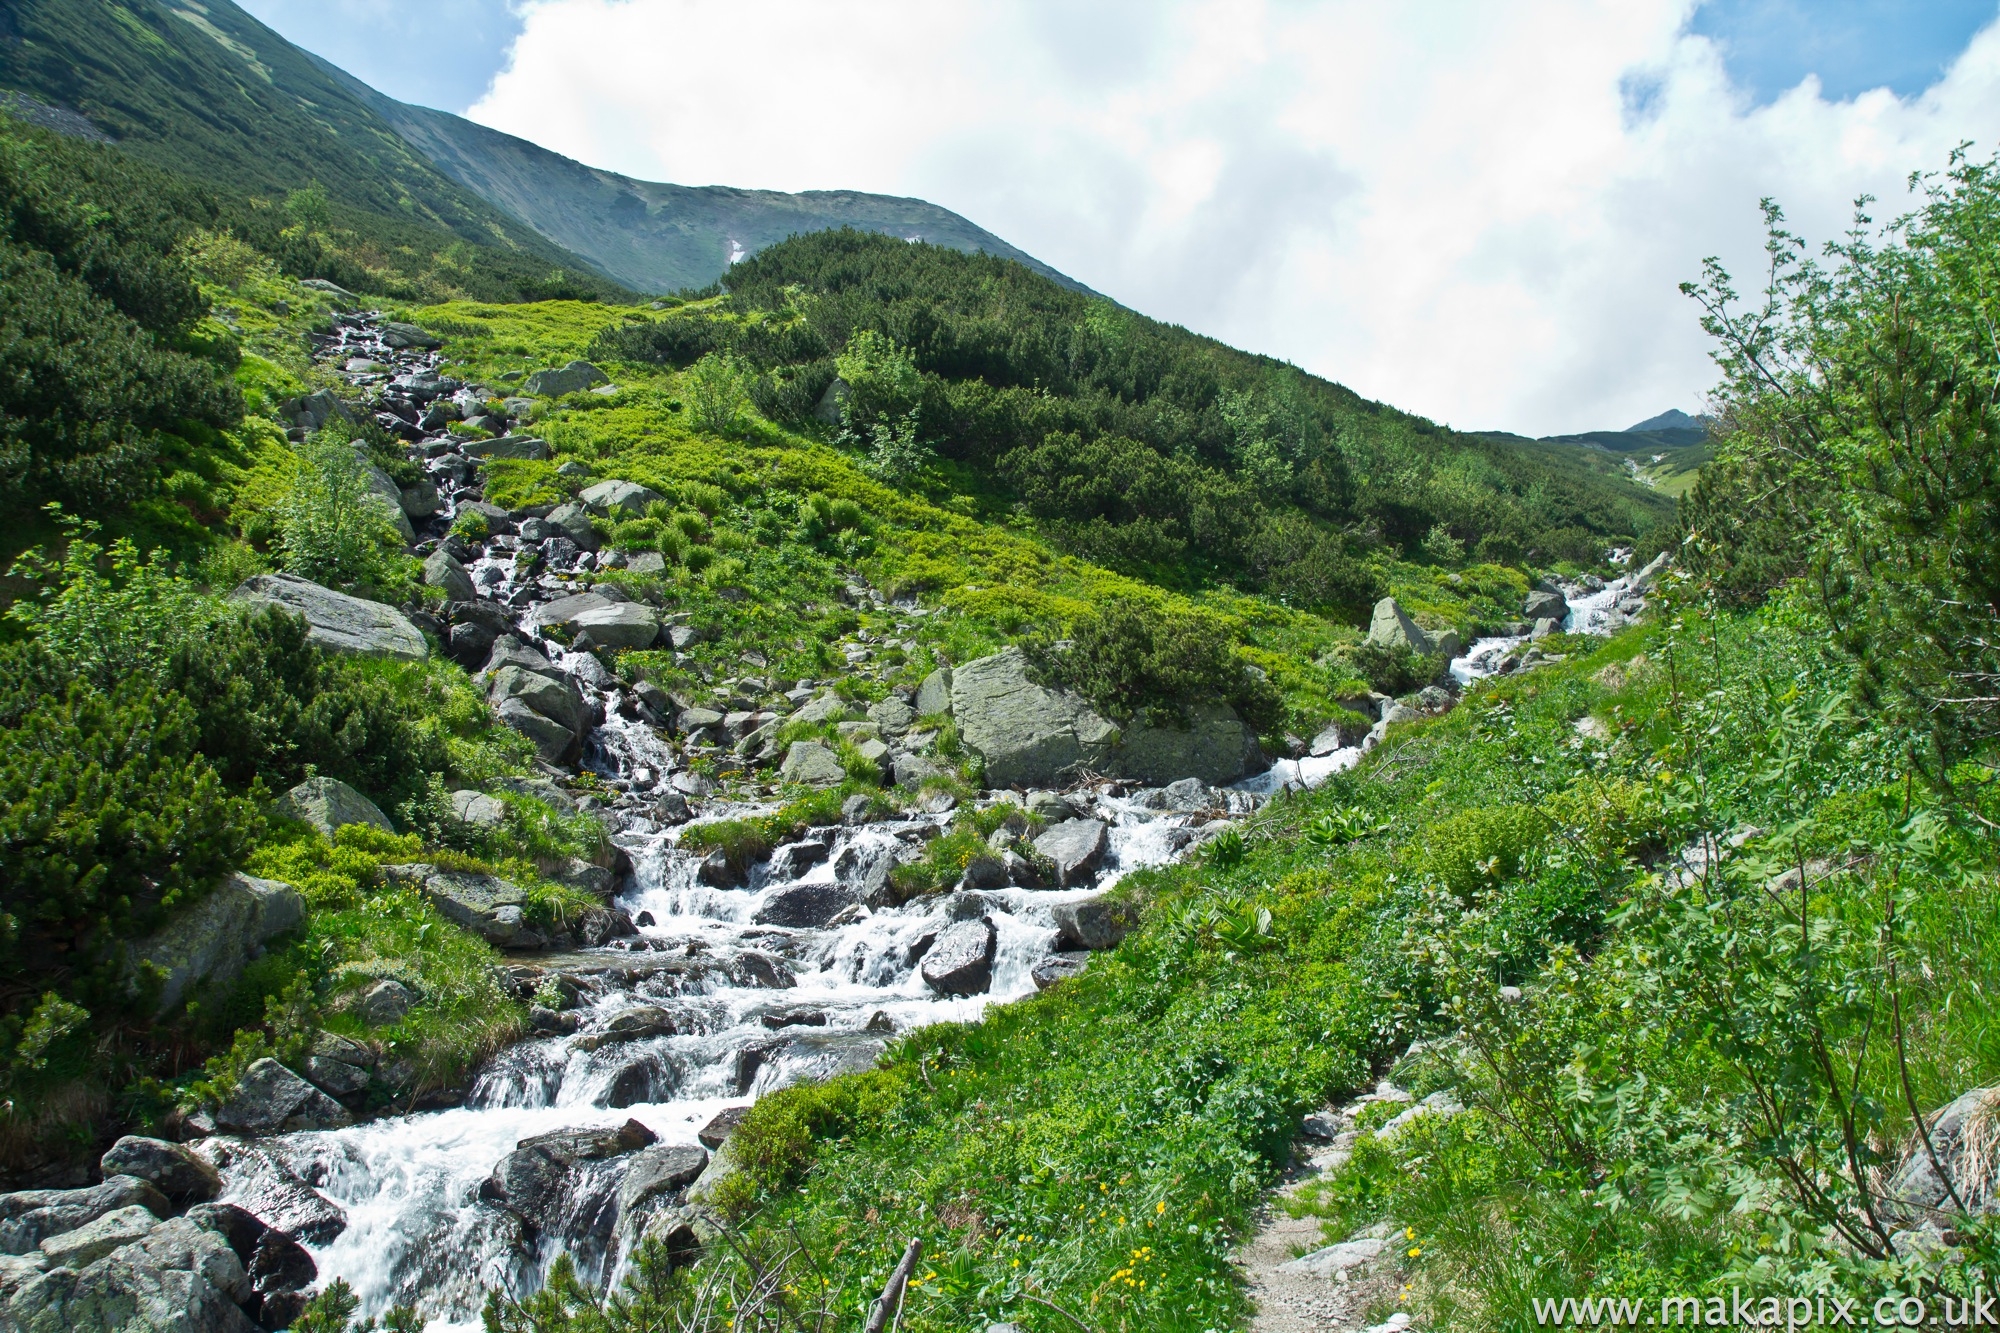
{"type": "Polygon", "coordinates": [[[1856,210],[1824,262],[1766,202],[1758,298],[1716,260],[1684,288],[1722,428],[1682,544],[1730,596],[1810,580],[1864,697],[1922,723],[1942,773],[2000,737],[2000,158],[1914,186],[1918,210],[1880,232],[1856,210]]]}

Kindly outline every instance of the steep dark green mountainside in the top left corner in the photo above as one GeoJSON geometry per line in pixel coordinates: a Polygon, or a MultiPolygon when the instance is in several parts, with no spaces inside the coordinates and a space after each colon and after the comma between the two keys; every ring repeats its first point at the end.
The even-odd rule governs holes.
{"type": "Polygon", "coordinates": [[[328,260],[324,276],[374,274],[412,294],[620,290],[442,176],[228,0],[24,0],[6,22],[0,88],[80,112],[122,150],[218,190],[232,222],[272,248],[288,226],[318,232],[322,244],[290,248],[302,266],[328,260]],[[324,190],[324,218],[284,210],[308,186],[324,190]]]}

